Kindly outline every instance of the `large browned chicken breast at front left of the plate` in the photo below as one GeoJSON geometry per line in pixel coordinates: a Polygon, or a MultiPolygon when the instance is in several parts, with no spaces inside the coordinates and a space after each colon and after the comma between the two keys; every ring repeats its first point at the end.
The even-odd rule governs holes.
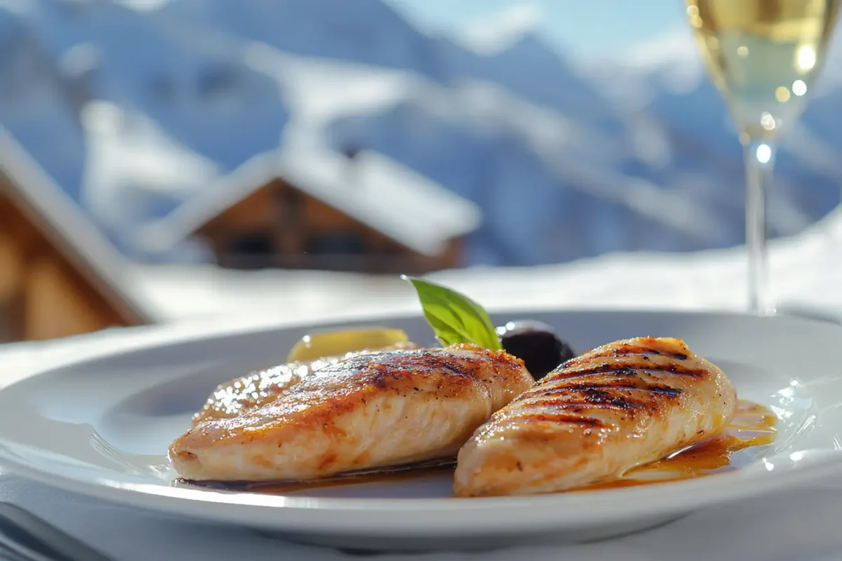
{"type": "Polygon", "coordinates": [[[532,384],[520,359],[472,345],[350,357],[267,405],[200,421],[170,458],[184,479],[221,481],[455,458],[477,426],[532,384]]]}

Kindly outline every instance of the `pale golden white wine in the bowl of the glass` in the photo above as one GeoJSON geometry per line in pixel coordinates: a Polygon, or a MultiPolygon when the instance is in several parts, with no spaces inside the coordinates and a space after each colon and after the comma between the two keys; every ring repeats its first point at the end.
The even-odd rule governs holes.
{"type": "Polygon", "coordinates": [[[820,70],[839,0],[688,0],[713,82],[745,142],[797,119],[820,70]]]}

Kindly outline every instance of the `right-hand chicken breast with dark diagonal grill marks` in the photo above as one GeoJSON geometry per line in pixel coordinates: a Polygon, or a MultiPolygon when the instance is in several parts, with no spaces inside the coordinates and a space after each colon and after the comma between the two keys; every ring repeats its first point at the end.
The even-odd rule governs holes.
{"type": "Polygon", "coordinates": [[[614,479],[720,433],[737,394],[684,341],[642,337],[562,364],[461,448],[457,496],[530,495],[614,479]]]}

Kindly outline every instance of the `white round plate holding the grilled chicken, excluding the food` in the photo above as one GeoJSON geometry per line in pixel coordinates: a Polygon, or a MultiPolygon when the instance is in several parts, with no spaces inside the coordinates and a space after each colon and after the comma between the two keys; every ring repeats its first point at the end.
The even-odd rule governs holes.
{"type": "MultiPolygon", "coordinates": [[[[450,480],[359,484],[290,495],[173,485],[169,442],[216,384],[281,362],[306,328],[144,345],[0,391],[0,463],[84,495],[162,513],[356,548],[492,547],[583,541],[705,505],[806,484],[842,464],[842,327],[791,317],[632,311],[507,312],[555,325],[579,352],[630,336],[679,336],[719,364],[743,399],[778,416],[774,445],[744,468],[700,479],[533,497],[450,499],[450,480]]],[[[420,317],[381,319],[426,344],[420,317]]],[[[320,326],[320,328],[323,326],[320,326]]],[[[2,367],[0,367],[2,368],[2,367]]],[[[755,450],[755,452],[757,452],[755,450]]]]}

